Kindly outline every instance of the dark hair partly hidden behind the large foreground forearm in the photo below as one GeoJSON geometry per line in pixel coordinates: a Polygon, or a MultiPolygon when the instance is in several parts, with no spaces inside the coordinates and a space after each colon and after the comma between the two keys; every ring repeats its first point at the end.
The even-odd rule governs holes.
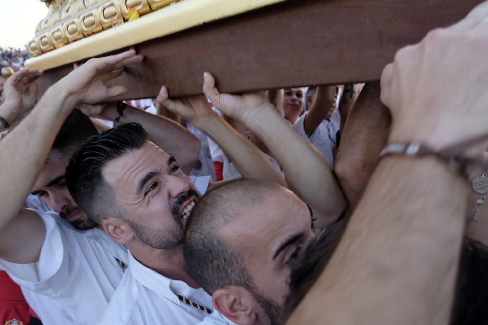
{"type": "MultiPolygon", "coordinates": [[[[320,238],[312,242],[304,256],[292,270],[290,295],[286,301],[289,317],[305,297],[329,262],[346,224],[329,227],[320,238]]],[[[466,238],[459,264],[451,325],[488,324],[488,248],[480,242],[466,238]]],[[[286,318],[287,318],[286,317],[286,318]]]]}

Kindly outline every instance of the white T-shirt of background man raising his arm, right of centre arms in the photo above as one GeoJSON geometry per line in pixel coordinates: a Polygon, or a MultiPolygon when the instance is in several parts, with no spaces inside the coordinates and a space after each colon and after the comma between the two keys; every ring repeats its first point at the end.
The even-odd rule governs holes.
{"type": "MultiPolygon", "coordinates": [[[[310,137],[305,133],[304,121],[305,116],[308,114],[306,112],[295,122],[293,128],[297,130],[305,139],[307,139],[315,148],[317,148],[327,159],[331,167],[334,167],[334,143],[329,138],[328,120],[323,120],[319,126],[315,129],[310,137]]],[[[335,134],[334,134],[335,138],[335,134]]],[[[335,141],[335,140],[334,140],[335,141]]]]}

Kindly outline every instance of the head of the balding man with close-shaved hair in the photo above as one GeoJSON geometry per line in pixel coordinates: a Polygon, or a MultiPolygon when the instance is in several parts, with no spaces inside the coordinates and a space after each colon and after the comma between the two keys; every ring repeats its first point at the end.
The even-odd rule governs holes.
{"type": "Polygon", "coordinates": [[[290,269],[318,232],[313,221],[309,207],[288,189],[236,180],[209,191],[194,208],[184,256],[231,321],[280,324],[290,269]]]}

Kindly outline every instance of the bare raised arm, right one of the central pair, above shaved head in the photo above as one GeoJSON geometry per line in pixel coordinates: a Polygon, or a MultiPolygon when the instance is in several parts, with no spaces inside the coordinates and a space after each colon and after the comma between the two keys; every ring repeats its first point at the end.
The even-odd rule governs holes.
{"type": "Polygon", "coordinates": [[[285,171],[286,182],[317,216],[316,225],[334,222],[346,200],[324,156],[276,113],[264,94],[220,94],[205,73],[205,95],[225,115],[243,122],[271,150],[285,171]]]}

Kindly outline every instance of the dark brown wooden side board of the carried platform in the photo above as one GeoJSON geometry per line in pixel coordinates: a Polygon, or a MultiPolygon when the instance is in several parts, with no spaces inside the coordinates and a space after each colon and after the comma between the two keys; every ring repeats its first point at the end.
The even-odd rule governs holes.
{"type": "MultiPolygon", "coordinates": [[[[481,0],[294,0],[136,45],[145,60],[115,80],[118,99],[378,80],[396,51],[462,19],[481,0]]],[[[49,71],[40,94],[72,70],[49,71]]]]}

